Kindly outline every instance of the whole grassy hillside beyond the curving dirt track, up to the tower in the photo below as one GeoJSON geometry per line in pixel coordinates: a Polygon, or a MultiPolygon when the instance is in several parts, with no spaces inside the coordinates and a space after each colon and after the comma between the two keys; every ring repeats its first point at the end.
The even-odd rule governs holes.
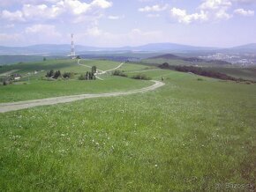
{"type": "MultiPolygon", "coordinates": [[[[120,63],[110,61],[80,61],[81,64],[87,66],[98,66],[101,70],[110,70],[116,68],[120,63]]],[[[129,70],[133,67],[134,70],[145,69],[145,66],[134,65],[125,63],[122,70],[129,70]],[[130,66],[131,65],[131,66],[130,66]],[[134,67],[135,66],[135,67],[134,67]]],[[[80,66],[75,60],[52,60],[41,63],[23,63],[11,66],[5,66],[8,70],[13,70],[15,73],[24,74],[22,81],[13,83],[12,85],[0,85],[0,103],[11,102],[19,100],[34,100],[56,96],[82,94],[82,93],[100,93],[100,92],[119,92],[132,89],[139,89],[152,85],[148,81],[138,81],[132,78],[120,78],[108,74],[102,75],[101,80],[95,81],[80,81],[78,80],[79,74],[85,74],[90,68],[80,66]],[[74,79],[71,80],[56,80],[47,81],[41,80],[46,74],[46,70],[61,70],[72,71],[78,73],[74,79]],[[33,74],[34,70],[40,70],[36,75],[33,74]],[[44,71],[41,71],[44,70],[44,71]],[[27,75],[27,72],[31,72],[31,75],[27,75]]],[[[2,72],[4,72],[4,70],[2,72]]]]}

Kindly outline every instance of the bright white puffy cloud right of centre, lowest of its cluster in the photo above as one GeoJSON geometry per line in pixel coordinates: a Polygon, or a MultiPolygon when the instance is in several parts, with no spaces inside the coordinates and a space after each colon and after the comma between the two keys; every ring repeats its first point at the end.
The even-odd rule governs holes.
{"type": "Polygon", "coordinates": [[[170,10],[171,18],[177,19],[179,23],[190,24],[195,21],[207,21],[207,14],[205,11],[200,11],[200,13],[187,14],[185,10],[180,10],[177,8],[172,8],[170,10]]]}

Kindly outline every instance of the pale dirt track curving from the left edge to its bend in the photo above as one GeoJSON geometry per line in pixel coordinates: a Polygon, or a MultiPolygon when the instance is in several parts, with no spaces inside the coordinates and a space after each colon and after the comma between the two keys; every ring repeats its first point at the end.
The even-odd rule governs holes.
{"type": "Polygon", "coordinates": [[[164,85],[164,83],[160,81],[152,80],[152,82],[154,82],[154,85],[150,85],[141,89],[131,90],[127,92],[79,94],[79,95],[63,96],[63,97],[48,98],[48,99],[41,99],[41,100],[26,100],[26,101],[18,101],[18,102],[11,102],[11,103],[0,103],[0,113],[17,111],[19,109],[31,108],[31,107],[37,107],[37,106],[49,106],[49,105],[55,105],[58,103],[68,103],[75,100],[84,100],[89,98],[116,97],[121,95],[139,93],[139,92],[148,92],[148,91],[153,91],[164,85]]]}

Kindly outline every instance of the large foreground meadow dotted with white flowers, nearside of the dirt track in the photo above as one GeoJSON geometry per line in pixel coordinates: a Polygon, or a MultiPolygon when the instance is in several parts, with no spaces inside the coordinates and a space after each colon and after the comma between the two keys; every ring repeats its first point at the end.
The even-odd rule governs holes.
{"type": "Polygon", "coordinates": [[[255,190],[256,85],[143,73],[166,85],[0,114],[0,188],[255,190]]]}

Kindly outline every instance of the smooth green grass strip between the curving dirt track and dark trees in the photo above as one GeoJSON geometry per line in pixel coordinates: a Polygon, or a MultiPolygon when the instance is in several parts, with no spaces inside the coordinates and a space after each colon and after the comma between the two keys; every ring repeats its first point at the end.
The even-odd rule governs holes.
{"type": "Polygon", "coordinates": [[[152,84],[153,83],[148,81],[138,81],[132,78],[118,77],[111,77],[105,79],[104,81],[33,80],[25,85],[23,83],[21,83],[20,85],[1,85],[0,103],[19,100],[43,99],[83,93],[119,92],[139,89],[152,84]]]}

